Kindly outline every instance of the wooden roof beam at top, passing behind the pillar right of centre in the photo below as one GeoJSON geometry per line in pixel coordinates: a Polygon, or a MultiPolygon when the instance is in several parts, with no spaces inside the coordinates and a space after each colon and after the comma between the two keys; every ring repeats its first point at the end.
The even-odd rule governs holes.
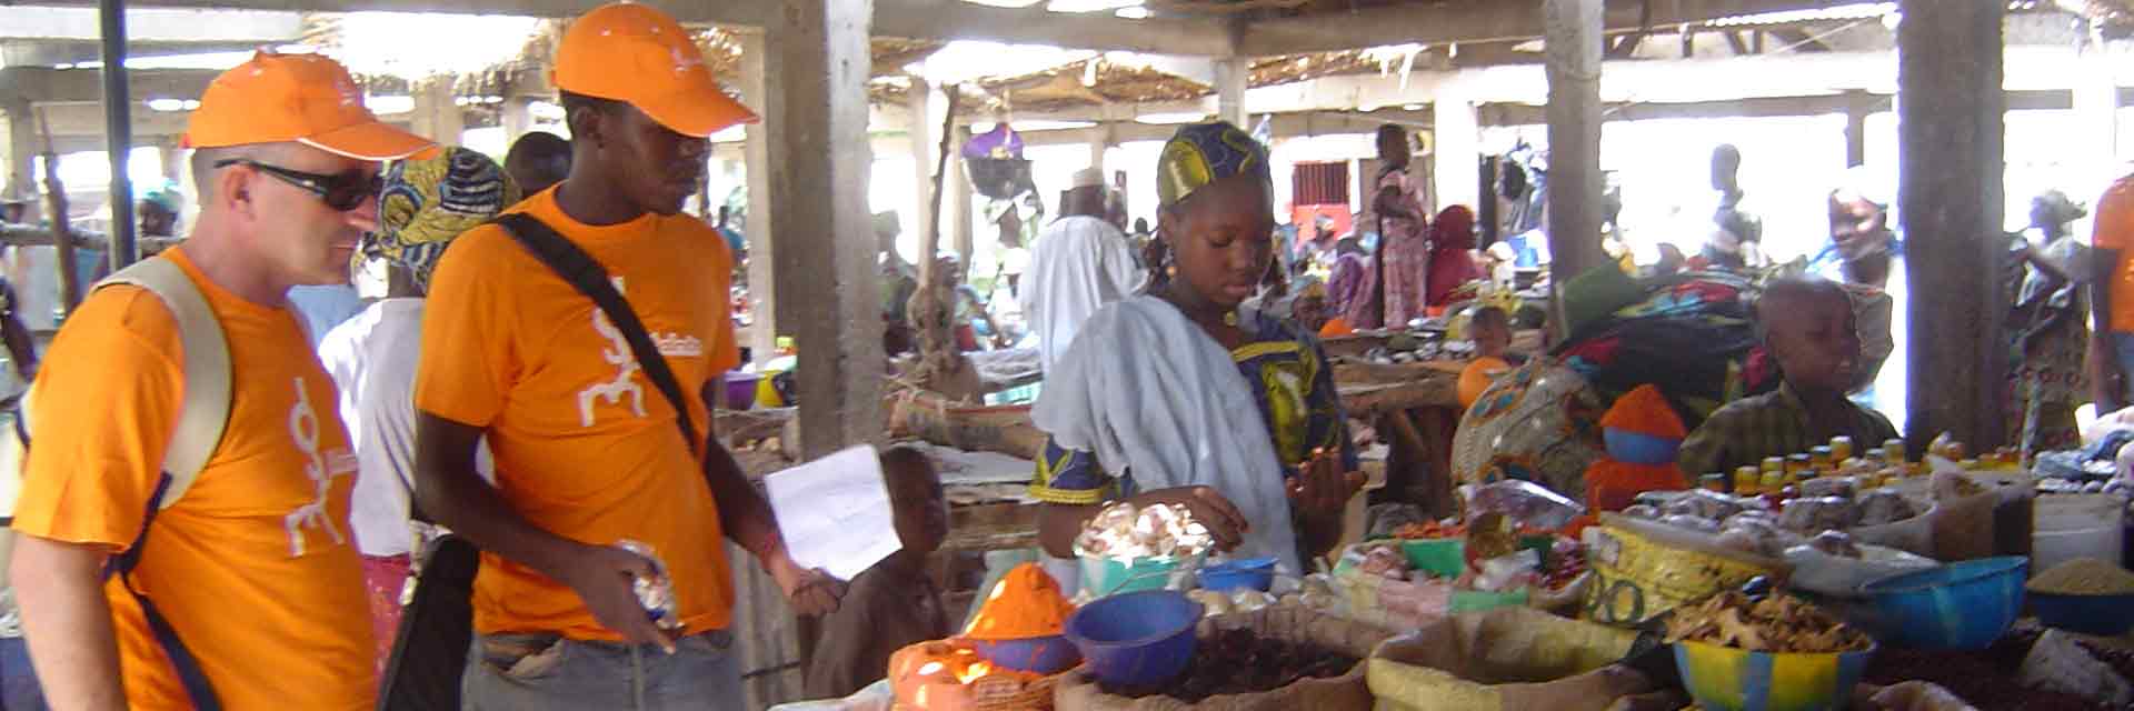
{"type": "MultiPolygon", "coordinates": [[[[1647,23],[1671,28],[1735,15],[1820,9],[1833,0],[1609,0],[1607,30],[1635,32],[1647,23]]],[[[1342,51],[1383,45],[1447,45],[1526,41],[1541,36],[1541,2],[1464,2],[1432,6],[1381,6],[1355,13],[1323,13],[1246,23],[1238,53],[1270,58],[1285,53],[1342,51]]]]}

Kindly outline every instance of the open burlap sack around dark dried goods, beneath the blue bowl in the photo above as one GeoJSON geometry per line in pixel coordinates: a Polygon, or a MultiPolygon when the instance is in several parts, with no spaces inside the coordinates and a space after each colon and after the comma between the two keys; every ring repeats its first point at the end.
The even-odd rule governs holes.
{"type": "MultiPolygon", "coordinates": [[[[1338,649],[1342,653],[1355,655],[1357,660],[1370,655],[1370,651],[1394,636],[1387,630],[1366,626],[1359,621],[1340,619],[1334,615],[1323,615],[1302,606],[1278,604],[1253,613],[1219,615],[1201,619],[1199,636],[1206,638],[1216,630],[1251,628],[1259,636],[1285,638],[1285,641],[1308,641],[1327,649],[1338,649]]],[[[1280,690],[1259,692],[1259,694],[1223,694],[1210,696],[1201,702],[1184,702],[1169,696],[1144,696],[1125,698],[1105,694],[1097,688],[1097,679],[1084,670],[1071,670],[1061,677],[1052,694],[1052,707],[1058,711],[1276,711],[1276,709],[1310,709],[1310,711],[1368,711],[1370,709],[1370,688],[1364,683],[1364,664],[1357,664],[1347,675],[1334,679],[1304,679],[1280,690]]]]}

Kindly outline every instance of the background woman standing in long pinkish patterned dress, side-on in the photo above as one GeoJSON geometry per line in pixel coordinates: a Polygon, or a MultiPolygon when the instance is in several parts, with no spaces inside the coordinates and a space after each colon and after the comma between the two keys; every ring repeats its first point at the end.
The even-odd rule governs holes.
{"type": "Polygon", "coordinates": [[[1423,280],[1430,275],[1430,214],[1423,207],[1423,186],[1408,177],[1411,158],[1408,130],[1379,126],[1379,192],[1361,224],[1379,231],[1379,250],[1366,271],[1361,299],[1347,314],[1357,329],[1406,327],[1423,316],[1428,303],[1423,280]],[[1381,293],[1381,278],[1383,310],[1372,301],[1381,293]]]}

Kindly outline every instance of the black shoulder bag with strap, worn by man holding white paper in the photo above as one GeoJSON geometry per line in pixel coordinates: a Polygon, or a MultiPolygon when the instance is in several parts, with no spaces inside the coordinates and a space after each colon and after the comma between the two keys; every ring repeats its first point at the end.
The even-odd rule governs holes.
{"type": "MultiPolygon", "coordinates": [[[[608,269],[578,246],[525,214],[497,216],[497,226],[540,258],[557,278],[593,299],[608,322],[630,342],[644,378],[674,406],[674,427],[696,453],[706,442],[689,421],[689,401],[638,320],[638,312],[608,282],[608,269]]],[[[429,562],[414,587],[414,600],[401,613],[393,658],[386,662],[384,685],[378,692],[380,711],[459,711],[459,683],[474,647],[474,572],[480,551],[459,536],[444,536],[431,547],[429,562]]]]}

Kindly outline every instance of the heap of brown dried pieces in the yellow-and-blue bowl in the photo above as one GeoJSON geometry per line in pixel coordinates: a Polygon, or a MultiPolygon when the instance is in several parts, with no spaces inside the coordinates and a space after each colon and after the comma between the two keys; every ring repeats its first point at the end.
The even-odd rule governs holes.
{"type": "Polygon", "coordinates": [[[1675,617],[1667,621],[1667,641],[1780,653],[1835,653],[1874,647],[1867,634],[1848,628],[1814,604],[1790,596],[1752,602],[1737,591],[1677,609],[1675,617]]]}

